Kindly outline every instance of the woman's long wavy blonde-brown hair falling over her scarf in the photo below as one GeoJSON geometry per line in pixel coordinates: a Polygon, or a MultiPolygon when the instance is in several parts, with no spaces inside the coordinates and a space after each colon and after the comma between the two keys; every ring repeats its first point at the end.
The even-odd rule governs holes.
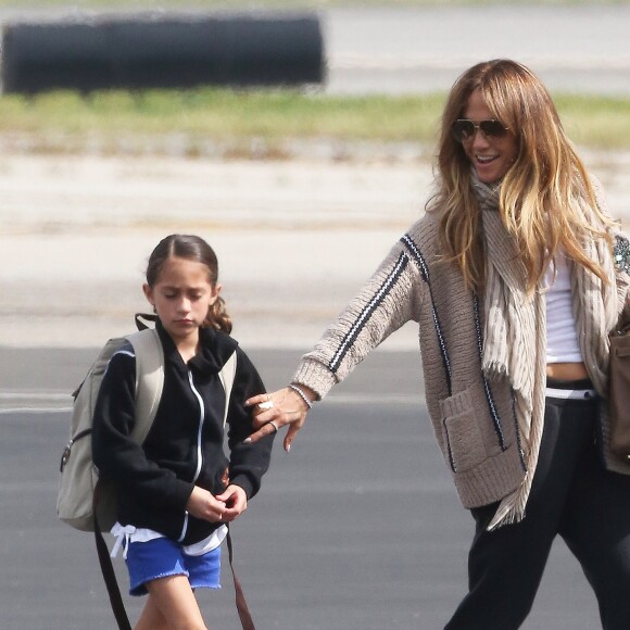
{"type": "Polygon", "coordinates": [[[515,237],[533,290],[558,248],[602,281],[603,269],[583,251],[585,239],[605,238],[613,222],[595,200],[585,167],[565,135],[556,108],[526,66],[511,60],[479,63],[453,86],[442,115],[438,152],[438,191],[427,210],[443,212],[440,238],[445,259],[455,262],[470,288],[484,278],[481,215],[470,186],[470,162],[452,135],[468,98],[480,90],[492,116],[516,135],[517,156],[501,184],[500,213],[515,237]],[[591,225],[584,212],[597,225],[591,225]]]}

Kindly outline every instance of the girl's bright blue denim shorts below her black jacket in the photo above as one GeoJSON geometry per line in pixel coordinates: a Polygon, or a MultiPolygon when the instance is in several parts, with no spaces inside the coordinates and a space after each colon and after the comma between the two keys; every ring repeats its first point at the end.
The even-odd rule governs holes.
{"type": "Polygon", "coordinates": [[[220,546],[190,556],[171,539],[156,538],[129,543],[126,562],[131,595],[146,595],[147,582],[167,576],[186,576],[193,589],[220,589],[220,546]]]}

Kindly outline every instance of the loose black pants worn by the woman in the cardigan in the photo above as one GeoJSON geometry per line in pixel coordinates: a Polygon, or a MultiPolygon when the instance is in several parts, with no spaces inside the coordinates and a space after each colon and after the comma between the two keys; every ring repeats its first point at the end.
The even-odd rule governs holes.
{"type": "Polygon", "coordinates": [[[595,592],[602,628],[630,629],[630,477],[604,469],[596,411],[596,401],[547,399],[526,518],[488,531],[497,504],[471,511],[469,592],[445,630],[519,628],[556,534],[595,592]]]}

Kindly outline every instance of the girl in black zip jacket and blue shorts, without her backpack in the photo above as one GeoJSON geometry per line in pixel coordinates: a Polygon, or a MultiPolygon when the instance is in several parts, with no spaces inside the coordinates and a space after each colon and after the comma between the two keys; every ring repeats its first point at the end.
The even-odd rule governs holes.
{"type": "Polygon", "coordinates": [[[129,436],[136,387],[130,344],[112,357],[97,402],[93,461],[116,488],[112,532],[125,545],[130,593],[149,594],[136,630],[205,628],[193,591],[219,587],[225,524],[244,512],[269,464],[273,436],[243,443],[253,431],[243,403],[264,386],[229,337],[217,276],[216,255],[201,238],[172,235],[158,244],[143,290],[158,314],[164,389],[143,444],[129,436]],[[226,401],[218,373],[235,351],[226,401]],[[229,462],[223,451],[226,404],[229,462]]]}

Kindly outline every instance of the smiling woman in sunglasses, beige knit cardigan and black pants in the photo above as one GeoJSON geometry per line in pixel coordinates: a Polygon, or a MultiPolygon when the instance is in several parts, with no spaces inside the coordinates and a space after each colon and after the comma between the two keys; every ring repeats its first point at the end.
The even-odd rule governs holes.
{"type": "Polygon", "coordinates": [[[476,533],[446,625],[518,628],[556,534],[603,627],[630,628],[630,465],[608,449],[608,332],[628,301],[628,240],[540,80],[508,60],[449,96],[426,215],[270,396],[252,440],[290,425],[383,339],[418,323],[426,400],[476,533]],[[264,423],[268,423],[264,425],[264,423]]]}

